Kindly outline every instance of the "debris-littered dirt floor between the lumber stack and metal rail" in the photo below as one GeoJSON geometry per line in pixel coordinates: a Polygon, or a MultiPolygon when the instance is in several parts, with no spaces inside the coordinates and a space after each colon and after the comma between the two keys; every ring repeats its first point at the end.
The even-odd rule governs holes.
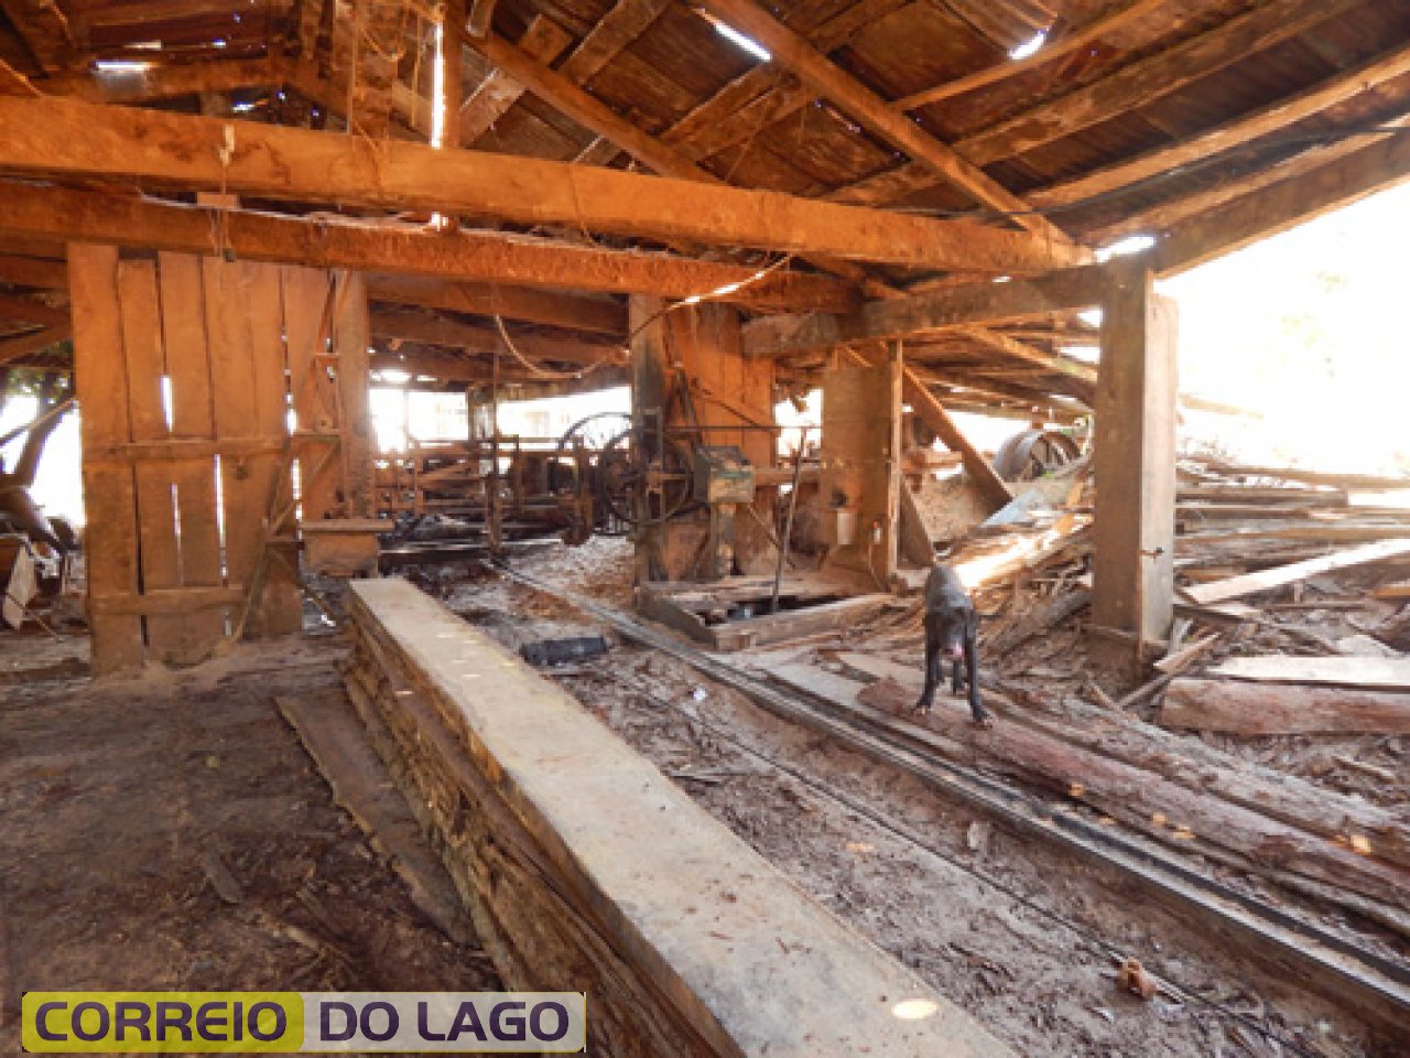
{"type": "MultiPolygon", "coordinates": [[[[620,542],[533,560],[534,574],[626,607],[620,542]]],[[[436,594],[501,642],[601,631],[492,576],[436,594]]],[[[1060,652],[1055,652],[1060,653],[1060,652]]],[[[1025,1055],[1392,1055],[1347,1011],[1261,972],[1115,873],[1011,834],[688,666],[618,643],[557,676],[802,889],[914,966],[1025,1055]],[[838,796],[843,800],[839,800],[838,796]],[[1180,986],[1114,986],[1117,956],[1180,986]]]]}

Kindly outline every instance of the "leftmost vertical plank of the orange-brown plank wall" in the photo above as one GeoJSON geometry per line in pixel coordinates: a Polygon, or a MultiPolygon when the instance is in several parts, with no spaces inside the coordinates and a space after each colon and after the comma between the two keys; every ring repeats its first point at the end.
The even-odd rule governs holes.
{"type": "MultiPolygon", "coordinates": [[[[69,247],[69,300],[73,306],[73,374],[85,401],[82,440],[87,446],[131,440],[127,419],[127,368],[117,296],[117,250],[69,247]]],[[[131,470],[83,466],[90,595],[138,591],[137,490],[131,470]]],[[[137,616],[92,614],[93,671],[99,676],[142,664],[142,625],[137,616]]]]}

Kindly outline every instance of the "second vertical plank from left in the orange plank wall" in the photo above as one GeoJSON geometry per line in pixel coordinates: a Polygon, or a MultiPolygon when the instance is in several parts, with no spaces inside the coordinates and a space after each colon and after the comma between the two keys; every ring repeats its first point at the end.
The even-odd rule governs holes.
{"type": "MultiPolygon", "coordinates": [[[[123,351],[127,355],[127,408],[134,442],[159,442],[169,436],[165,398],[166,351],[162,343],[161,310],[154,261],[121,261],[117,265],[117,296],[123,313],[123,351]]],[[[175,588],[180,584],[180,553],[176,542],[176,502],[172,468],[164,463],[138,461],[137,532],[142,591],[175,588]]],[[[149,616],[147,653],[159,662],[182,660],[182,619],[149,616]]]]}

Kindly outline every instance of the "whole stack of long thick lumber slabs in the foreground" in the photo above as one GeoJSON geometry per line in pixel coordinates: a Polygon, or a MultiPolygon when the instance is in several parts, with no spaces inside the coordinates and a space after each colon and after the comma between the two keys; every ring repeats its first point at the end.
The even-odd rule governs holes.
{"type": "Polygon", "coordinates": [[[587,992],[594,1054],[1011,1054],[443,605],[350,598],[374,746],[505,985],[587,992]]]}

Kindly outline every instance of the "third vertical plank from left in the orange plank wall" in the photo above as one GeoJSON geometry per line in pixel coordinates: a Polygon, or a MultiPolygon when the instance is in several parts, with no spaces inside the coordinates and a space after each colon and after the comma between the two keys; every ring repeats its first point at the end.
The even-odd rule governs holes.
{"type": "MultiPolygon", "coordinates": [[[[180,583],[186,588],[217,590],[224,584],[220,557],[220,516],[216,499],[216,461],[210,405],[210,357],[206,351],[206,308],[200,261],[189,254],[159,254],[162,339],[171,378],[172,433],[204,439],[212,450],[172,467],[180,518],[180,583]]],[[[155,458],[157,453],[145,453],[155,458]]],[[[195,663],[226,635],[223,608],[185,615],[182,645],[169,645],[173,662],[195,663]]]]}

